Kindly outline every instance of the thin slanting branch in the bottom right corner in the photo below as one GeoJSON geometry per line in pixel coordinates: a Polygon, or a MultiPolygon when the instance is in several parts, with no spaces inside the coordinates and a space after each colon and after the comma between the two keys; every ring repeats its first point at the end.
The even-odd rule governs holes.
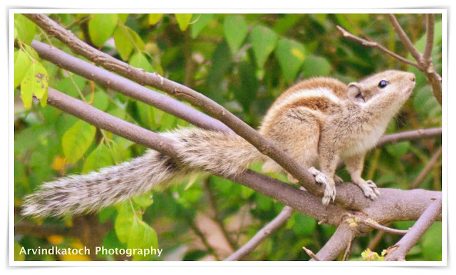
{"type": "Polygon", "coordinates": [[[395,244],[395,249],[390,253],[386,254],[386,261],[405,261],[405,255],[412,247],[420,240],[425,234],[427,229],[437,220],[437,217],[442,212],[442,198],[435,199],[426,211],[423,212],[420,219],[413,224],[413,227],[409,230],[408,234],[399,240],[395,244]]]}

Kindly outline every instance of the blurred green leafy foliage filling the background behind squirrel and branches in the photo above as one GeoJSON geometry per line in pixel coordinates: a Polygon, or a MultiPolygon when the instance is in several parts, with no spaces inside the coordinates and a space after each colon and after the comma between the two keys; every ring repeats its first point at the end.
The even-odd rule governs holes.
{"type": "MultiPolygon", "coordinates": [[[[274,99],[299,79],[331,76],[348,83],[386,68],[413,71],[373,48],[346,40],[336,31],[340,24],[405,56],[405,49],[395,39],[393,29],[382,14],[51,14],[51,17],[87,43],[132,66],[156,71],[204,93],[255,128],[274,99]]],[[[398,19],[408,26],[408,34],[418,48],[423,48],[424,17],[402,15],[398,19]]],[[[442,67],[440,20],[437,18],[432,55],[439,71],[442,67]]],[[[15,16],[14,37],[18,42],[14,53],[16,207],[21,207],[24,196],[43,182],[128,161],[145,150],[45,105],[48,85],[144,128],[162,132],[189,126],[161,110],[42,61],[30,46],[32,39],[51,39],[53,45],[63,51],[68,48],[39,33],[37,28],[25,16],[15,16]],[[33,96],[40,100],[41,106],[33,101],[33,96]]],[[[390,123],[388,133],[441,126],[440,105],[433,98],[423,73],[414,72],[418,85],[398,118],[390,123]]],[[[420,140],[375,150],[366,157],[363,176],[380,187],[409,189],[440,144],[440,139],[420,140]]],[[[259,167],[257,164],[252,169],[259,170],[259,167]]],[[[349,180],[345,171],[339,175],[349,180]]],[[[286,181],[285,175],[271,176],[286,181]]],[[[188,188],[185,183],[189,182],[184,182],[167,190],[153,190],[96,214],[98,223],[92,224],[93,232],[103,232],[101,242],[90,243],[81,236],[59,236],[58,245],[78,247],[81,242],[111,248],[160,245],[162,256],[147,259],[223,259],[227,255],[215,251],[214,244],[206,244],[198,233],[197,229],[204,232],[204,228],[212,228],[214,224],[204,217],[217,213],[214,220],[224,224],[236,247],[252,238],[283,207],[269,197],[219,177],[198,175],[190,182],[188,188]]],[[[440,164],[437,163],[420,187],[441,190],[440,164]]],[[[17,223],[22,222],[17,212],[15,219],[17,223]]],[[[76,218],[27,220],[56,227],[82,226],[76,218]]],[[[400,227],[400,224],[404,223],[395,225],[400,227]]],[[[408,228],[411,224],[407,222],[403,226],[408,228]]],[[[219,227],[215,228],[218,232],[219,227]]],[[[309,259],[301,247],[318,251],[333,232],[334,227],[318,225],[314,219],[294,213],[286,226],[266,239],[250,257],[309,259]]],[[[209,237],[212,233],[204,234],[209,237]]],[[[441,234],[441,224],[437,223],[420,240],[410,259],[439,260],[441,234]]],[[[358,238],[352,244],[351,259],[361,259],[361,252],[374,236],[358,238]]],[[[53,245],[52,236],[16,232],[15,240],[16,252],[21,247],[53,245]]],[[[375,249],[380,251],[395,242],[395,236],[385,237],[375,249]]],[[[221,251],[230,249],[225,246],[221,251]]],[[[364,258],[371,259],[369,255],[373,252],[369,251],[363,252],[364,258]]],[[[15,255],[16,259],[24,259],[24,255],[15,255]]],[[[110,255],[90,259],[99,258],[123,259],[110,255]]],[[[373,257],[377,258],[380,259],[378,254],[373,257]]],[[[25,259],[63,258],[27,255],[25,259]]]]}

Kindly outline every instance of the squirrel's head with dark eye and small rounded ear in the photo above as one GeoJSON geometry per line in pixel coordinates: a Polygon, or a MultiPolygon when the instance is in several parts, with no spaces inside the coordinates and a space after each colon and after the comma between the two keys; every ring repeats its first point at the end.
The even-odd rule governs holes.
{"type": "Polygon", "coordinates": [[[368,76],[358,83],[348,84],[348,96],[361,102],[368,102],[378,95],[395,98],[402,105],[415,87],[415,74],[388,70],[368,76]]]}

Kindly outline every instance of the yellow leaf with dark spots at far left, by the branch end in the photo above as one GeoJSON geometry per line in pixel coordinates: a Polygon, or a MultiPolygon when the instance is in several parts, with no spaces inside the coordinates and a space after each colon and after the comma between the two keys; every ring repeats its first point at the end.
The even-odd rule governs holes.
{"type": "MultiPolygon", "coordinates": [[[[31,108],[32,96],[47,98],[49,77],[46,68],[38,61],[31,64],[21,82],[21,98],[25,108],[31,108]]],[[[43,104],[43,103],[41,103],[43,104]]]]}

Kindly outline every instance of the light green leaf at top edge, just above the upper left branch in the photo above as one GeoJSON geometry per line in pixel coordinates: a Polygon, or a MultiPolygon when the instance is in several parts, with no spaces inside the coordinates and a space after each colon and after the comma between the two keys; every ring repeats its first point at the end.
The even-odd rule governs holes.
{"type": "Polygon", "coordinates": [[[94,14],[88,21],[88,34],[95,46],[102,46],[118,24],[117,14],[94,14]]]}

